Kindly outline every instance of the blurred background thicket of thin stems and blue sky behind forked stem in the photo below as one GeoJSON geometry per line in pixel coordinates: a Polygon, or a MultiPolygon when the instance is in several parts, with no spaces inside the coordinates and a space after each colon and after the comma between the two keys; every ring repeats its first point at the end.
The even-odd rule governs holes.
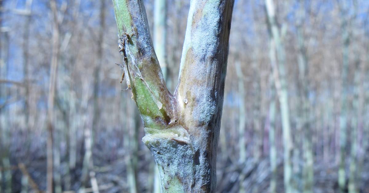
{"type": "MultiPolygon", "coordinates": [[[[172,93],[189,3],[145,0],[172,93]]],[[[111,0],[0,7],[0,192],[157,193],[111,0]]],[[[236,0],[217,192],[368,193],[368,74],[368,0],[236,0]]]]}

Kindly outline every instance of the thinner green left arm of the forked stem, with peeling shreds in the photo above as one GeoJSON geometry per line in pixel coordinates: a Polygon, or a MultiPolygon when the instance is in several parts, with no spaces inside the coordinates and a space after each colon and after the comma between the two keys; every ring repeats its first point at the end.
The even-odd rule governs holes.
{"type": "Polygon", "coordinates": [[[142,0],[113,0],[123,55],[121,68],[128,76],[133,99],[144,126],[165,129],[175,124],[175,100],[169,93],[152,45],[142,0]]]}

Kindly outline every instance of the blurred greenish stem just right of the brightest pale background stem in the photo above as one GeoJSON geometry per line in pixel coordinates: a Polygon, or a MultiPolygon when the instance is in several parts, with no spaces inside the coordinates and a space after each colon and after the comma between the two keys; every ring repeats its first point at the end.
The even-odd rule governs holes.
{"type": "MultiPolygon", "coordinates": [[[[312,131],[310,127],[310,102],[309,102],[309,90],[310,90],[310,80],[308,78],[309,66],[307,60],[307,49],[305,46],[305,37],[303,31],[303,24],[305,22],[305,10],[304,1],[300,0],[300,8],[297,11],[297,43],[299,47],[299,85],[300,87],[300,98],[301,98],[301,126],[303,129],[303,192],[313,193],[313,149],[312,149],[312,131]]],[[[322,127],[324,128],[324,127],[322,127]]]]}

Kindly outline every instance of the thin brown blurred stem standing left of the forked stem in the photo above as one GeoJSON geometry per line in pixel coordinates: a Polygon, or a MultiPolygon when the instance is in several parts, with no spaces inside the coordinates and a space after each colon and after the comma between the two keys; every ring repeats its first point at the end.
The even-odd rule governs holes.
{"type": "Polygon", "coordinates": [[[56,8],[55,0],[50,1],[50,7],[53,15],[52,26],[52,56],[49,78],[49,94],[48,94],[48,112],[47,112],[47,192],[54,192],[54,157],[53,157],[53,143],[54,143],[54,98],[55,98],[55,85],[58,69],[58,57],[59,57],[59,24],[58,24],[58,10],[56,8]]]}

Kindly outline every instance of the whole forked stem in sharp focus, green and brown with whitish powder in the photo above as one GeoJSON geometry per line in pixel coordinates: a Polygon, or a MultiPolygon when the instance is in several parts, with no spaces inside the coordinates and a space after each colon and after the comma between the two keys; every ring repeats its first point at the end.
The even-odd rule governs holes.
{"type": "Polygon", "coordinates": [[[192,0],[174,96],[152,46],[142,0],[113,0],[126,82],[144,122],[142,139],[163,192],[215,192],[234,0],[192,0]]]}

